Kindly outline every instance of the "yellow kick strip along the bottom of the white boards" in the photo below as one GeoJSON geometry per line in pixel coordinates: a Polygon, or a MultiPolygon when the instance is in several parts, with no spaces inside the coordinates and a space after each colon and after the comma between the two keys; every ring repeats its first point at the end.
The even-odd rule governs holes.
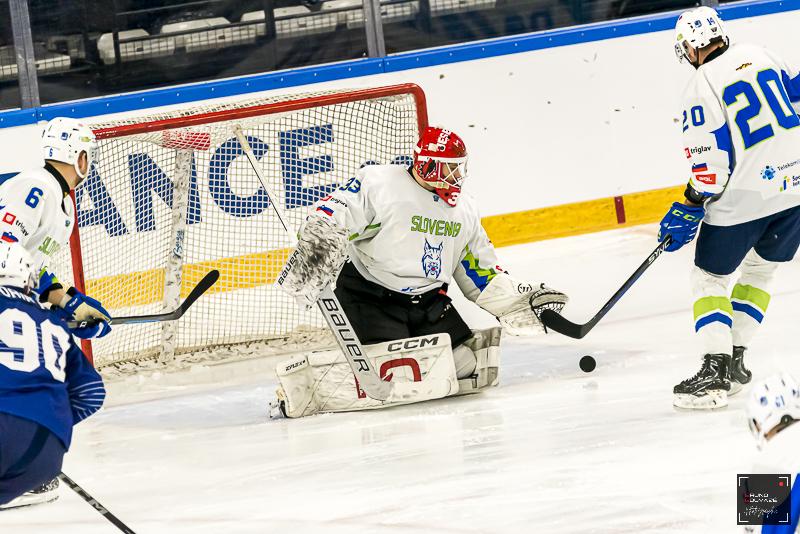
{"type": "MultiPolygon", "coordinates": [[[[575,202],[548,208],[484,217],[486,233],[496,247],[519,245],[612,230],[623,226],[656,223],[675,200],[683,198],[684,186],[654,189],[620,197],[575,202]],[[620,199],[624,220],[620,222],[620,199]]],[[[205,276],[217,269],[220,278],[208,293],[222,293],[275,282],[291,249],[257,252],[233,258],[185,264],[181,298],[205,276]]],[[[111,309],[143,306],[164,298],[164,270],[106,276],[87,281],[87,293],[111,309]]]]}

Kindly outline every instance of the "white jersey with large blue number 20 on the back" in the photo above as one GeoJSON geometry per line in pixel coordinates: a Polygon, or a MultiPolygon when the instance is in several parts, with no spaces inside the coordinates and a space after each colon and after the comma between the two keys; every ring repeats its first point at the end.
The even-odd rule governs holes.
{"type": "Polygon", "coordinates": [[[731,226],[800,205],[800,76],[738,44],[697,69],[684,96],[690,185],[706,222],[731,226]]]}

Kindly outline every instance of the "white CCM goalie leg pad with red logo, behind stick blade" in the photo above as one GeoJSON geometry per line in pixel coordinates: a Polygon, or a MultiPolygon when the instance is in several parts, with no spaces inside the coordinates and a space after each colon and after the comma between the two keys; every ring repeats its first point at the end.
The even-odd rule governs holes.
{"type": "Polygon", "coordinates": [[[448,334],[364,347],[381,378],[394,384],[386,401],[369,398],[339,350],[312,352],[278,364],[278,402],[287,417],[369,410],[446,397],[458,390],[448,334]]]}

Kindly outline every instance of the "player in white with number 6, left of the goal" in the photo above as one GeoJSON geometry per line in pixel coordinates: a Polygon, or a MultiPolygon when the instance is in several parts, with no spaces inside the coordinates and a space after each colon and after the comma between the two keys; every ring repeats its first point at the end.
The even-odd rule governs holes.
{"type": "Polygon", "coordinates": [[[0,240],[20,243],[34,258],[39,272],[41,302],[60,308],[66,319],[87,321],[79,337],[102,337],[111,327],[108,312],[74,287],[65,288],[51,271],[54,255],[68,245],[74,226],[69,198],[89,174],[97,141],[75,119],[55,118],[42,133],[44,167],[29,169],[0,184],[0,240]]]}

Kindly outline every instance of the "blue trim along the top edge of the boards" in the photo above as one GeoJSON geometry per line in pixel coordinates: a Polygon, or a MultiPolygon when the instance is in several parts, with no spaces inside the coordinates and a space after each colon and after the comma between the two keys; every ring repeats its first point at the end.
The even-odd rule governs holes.
{"type": "MultiPolygon", "coordinates": [[[[800,9],[796,1],[753,0],[720,6],[724,20],[735,20],[761,15],[771,15],[800,9]]],[[[631,19],[612,20],[573,26],[543,32],[500,37],[486,41],[458,44],[430,50],[417,50],[391,55],[386,58],[366,58],[328,65],[303,67],[286,71],[242,76],[227,80],[154,89],[139,93],[126,93],[108,97],[91,98],[25,110],[0,112],[0,128],[23,126],[53,117],[92,117],[107,113],[120,113],[140,109],[185,104],[244,95],[270,89],[295,87],[318,82],[344,80],[403,70],[472,61],[519,52],[543,50],[617,37],[627,37],[650,32],[670,30],[675,25],[678,11],[659,13],[631,19]]]]}

